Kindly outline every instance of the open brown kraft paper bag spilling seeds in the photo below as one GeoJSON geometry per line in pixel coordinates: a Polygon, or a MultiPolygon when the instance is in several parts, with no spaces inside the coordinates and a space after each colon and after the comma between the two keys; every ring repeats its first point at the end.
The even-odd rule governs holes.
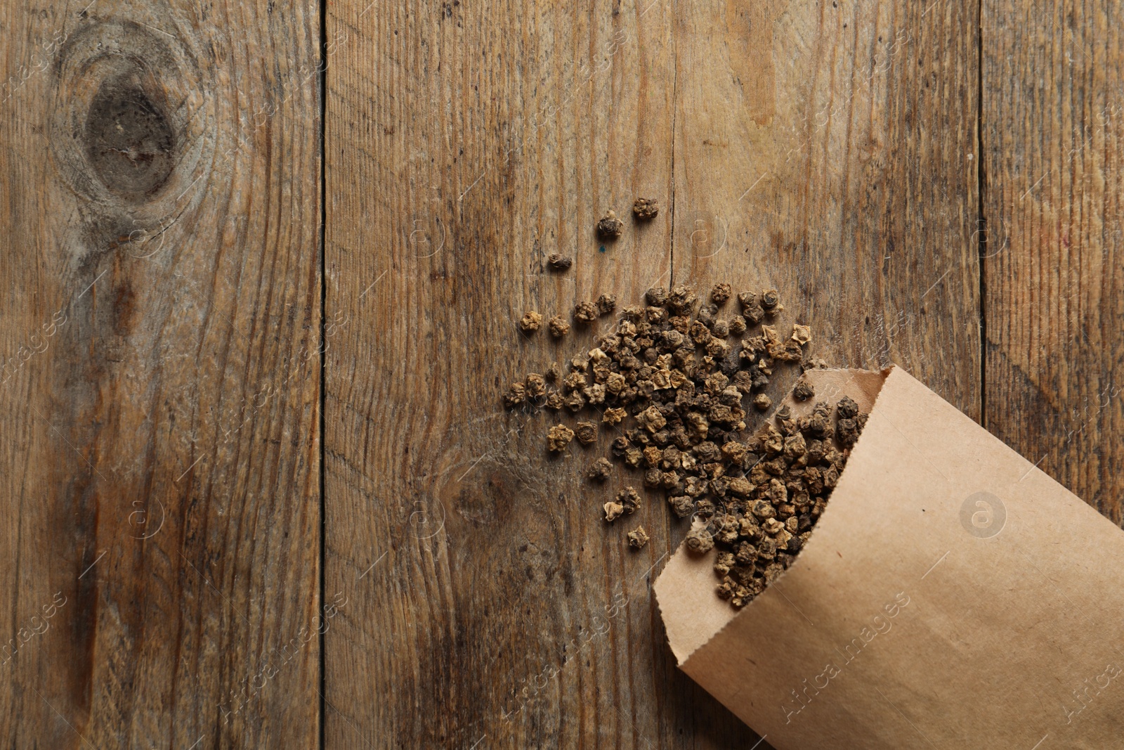
{"type": "Polygon", "coordinates": [[[900,368],[810,370],[870,418],[741,612],[714,552],[655,584],[680,668],[778,750],[1124,748],[1124,533],[900,368]]]}

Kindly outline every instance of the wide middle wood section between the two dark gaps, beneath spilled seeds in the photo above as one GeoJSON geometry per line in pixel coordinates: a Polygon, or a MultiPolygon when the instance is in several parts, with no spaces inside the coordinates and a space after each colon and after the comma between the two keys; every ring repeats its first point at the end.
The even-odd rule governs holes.
{"type": "Polygon", "coordinates": [[[598,453],[551,460],[551,417],[500,408],[591,340],[524,336],[525,309],[776,284],[817,354],[895,359],[979,416],[975,10],[758,4],[329,6],[328,747],[758,739],[663,642],[650,582],[683,526],[651,496],[631,553],[598,453]],[[642,195],[654,225],[600,252],[642,195]]]}

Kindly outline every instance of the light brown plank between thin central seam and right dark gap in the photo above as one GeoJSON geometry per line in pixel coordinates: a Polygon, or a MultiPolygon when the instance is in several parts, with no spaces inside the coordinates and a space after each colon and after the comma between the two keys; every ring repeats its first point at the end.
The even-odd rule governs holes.
{"type": "Polygon", "coordinates": [[[777,288],[813,356],[897,362],[979,418],[975,7],[677,9],[676,283],[777,288]]]}

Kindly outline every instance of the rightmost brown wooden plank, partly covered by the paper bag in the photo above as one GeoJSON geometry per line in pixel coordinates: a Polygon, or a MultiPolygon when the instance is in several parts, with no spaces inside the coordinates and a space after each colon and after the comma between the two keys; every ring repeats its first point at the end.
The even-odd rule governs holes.
{"type": "Polygon", "coordinates": [[[984,3],[987,427],[1124,523],[1120,3],[984,3]]]}

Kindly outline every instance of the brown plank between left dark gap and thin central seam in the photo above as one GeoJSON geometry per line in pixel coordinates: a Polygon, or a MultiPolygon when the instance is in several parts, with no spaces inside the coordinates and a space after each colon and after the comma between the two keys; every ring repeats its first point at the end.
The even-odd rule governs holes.
{"type": "Polygon", "coordinates": [[[652,561],[602,528],[587,454],[547,460],[546,415],[500,394],[592,340],[524,337],[524,310],[669,277],[671,16],[365,4],[328,8],[348,40],[329,61],[327,315],[348,323],[327,352],[326,590],[352,604],[326,640],[327,746],[643,744],[652,561]],[[595,223],[636,195],[664,211],[600,252],[595,223]],[[570,272],[546,270],[555,251],[570,272]]]}

